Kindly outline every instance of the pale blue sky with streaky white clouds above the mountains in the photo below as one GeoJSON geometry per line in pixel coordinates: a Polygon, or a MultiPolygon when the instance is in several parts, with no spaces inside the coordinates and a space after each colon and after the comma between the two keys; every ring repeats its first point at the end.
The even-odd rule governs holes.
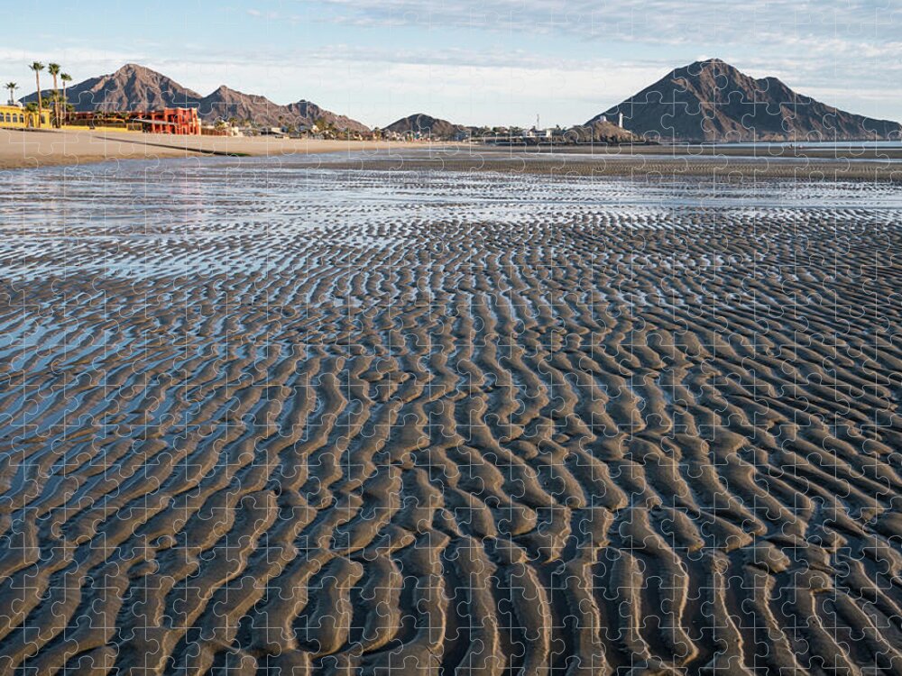
{"type": "Polygon", "coordinates": [[[569,126],[716,57],[902,120],[902,0],[42,0],[0,3],[0,25],[17,96],[33,60],[74,82],[136,62],[201,95],[226,84],[370,126],[569,126]]]}

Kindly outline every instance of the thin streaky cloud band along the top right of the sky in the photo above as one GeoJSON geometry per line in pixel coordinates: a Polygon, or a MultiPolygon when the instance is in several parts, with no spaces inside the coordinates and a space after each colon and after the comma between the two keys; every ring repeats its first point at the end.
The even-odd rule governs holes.
{"type": "Polygon", "coordinates": [[[372,26],[415,25],[576,34],[597,40],[750,43],[845,33],[887,41],[900,10],[889,0],[297,0],[308,19],[372,26]]]}

